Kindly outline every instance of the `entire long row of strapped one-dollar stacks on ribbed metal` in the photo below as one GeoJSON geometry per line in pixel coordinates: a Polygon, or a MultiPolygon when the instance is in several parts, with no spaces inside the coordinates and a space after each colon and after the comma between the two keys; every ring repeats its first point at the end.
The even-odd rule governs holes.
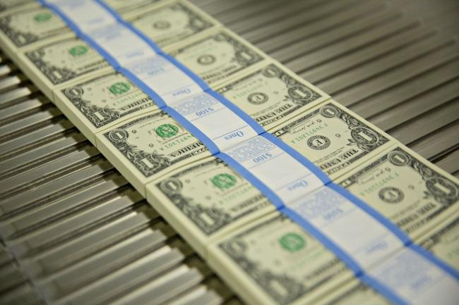
{"type": "Polygon", "coordinates": [[[457,179],[196,6],[121,2],[17,6],[0,41],[248,304],[454,304],[457,179]]]}

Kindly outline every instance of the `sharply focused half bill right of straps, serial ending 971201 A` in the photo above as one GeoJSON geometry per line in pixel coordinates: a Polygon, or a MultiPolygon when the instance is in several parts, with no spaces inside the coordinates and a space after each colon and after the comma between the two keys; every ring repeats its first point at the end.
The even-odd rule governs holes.
{"type": "Polygon", "coordinates": [[[271,132],[333,180],[395,143],[335,101],[312,108],[271,132]]]}

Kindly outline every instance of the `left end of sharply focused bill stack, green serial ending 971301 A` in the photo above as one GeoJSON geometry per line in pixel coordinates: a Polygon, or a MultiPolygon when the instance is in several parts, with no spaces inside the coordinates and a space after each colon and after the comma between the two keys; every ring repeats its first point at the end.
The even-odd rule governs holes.
{"type": "Polygon", "coordinates": [[[145,196],[145,184],[210,152],[164,111],[152,111],[99,132],[97,148],[145,196]]]}

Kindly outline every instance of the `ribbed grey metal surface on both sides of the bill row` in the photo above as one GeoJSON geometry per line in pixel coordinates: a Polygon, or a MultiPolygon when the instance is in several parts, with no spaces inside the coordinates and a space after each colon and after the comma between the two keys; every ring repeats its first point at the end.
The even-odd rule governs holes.
{"type": "MultiPolygon", "coordinates": [[[[194,0],[459,177],[459,3],[194,0]]],[[[1,304],[240,304],[0,54],[1,304]]]]}

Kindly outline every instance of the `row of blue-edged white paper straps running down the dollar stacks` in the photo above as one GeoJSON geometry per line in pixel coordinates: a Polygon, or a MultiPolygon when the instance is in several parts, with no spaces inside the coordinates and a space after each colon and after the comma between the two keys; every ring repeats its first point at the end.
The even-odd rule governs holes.
{"type": "Polygon", "coordinates": [[[270,135],[102,1],[40,1],[163,111],[397,304],[454,304],[459,272],[270,135]],[[201,113],[201,116],[196,115],[201,113]],[[221,124],[225,122],[225,124],[221,124]],[[359,225],[355,225],[355,224],[359,225]]]}

